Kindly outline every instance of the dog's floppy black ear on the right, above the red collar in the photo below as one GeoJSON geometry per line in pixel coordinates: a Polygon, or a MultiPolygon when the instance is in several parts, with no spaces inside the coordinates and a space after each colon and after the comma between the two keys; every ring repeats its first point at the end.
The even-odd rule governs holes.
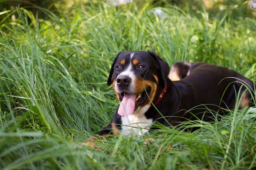
{"type": "Polygon", "coordinates": [[[164,84],[167,84],[166,78],[168,77],[170,67],[169,64],[163,59],[161,59],[157,54],[155,54],[154,51],[148,51],[148,53],[151,55],[151,57],[154,59],[154,61],[157,63],[157,66],[160,68],[161,76],[163,79],[164,84]]]}

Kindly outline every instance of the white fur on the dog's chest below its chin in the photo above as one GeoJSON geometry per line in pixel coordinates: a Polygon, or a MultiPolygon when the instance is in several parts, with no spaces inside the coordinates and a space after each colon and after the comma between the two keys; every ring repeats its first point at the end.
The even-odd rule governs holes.
{"type": "Polygon", "coordinates": [[[135,133],[137,136],[142,136],[149,131],[153,119],[146,119],[145,117],[144,113],[148,108],[149,106],[147,105],[143,108],[139,107],[134,113],[126,117],[121,117],[122,131],[125,135],[135,133]]]}

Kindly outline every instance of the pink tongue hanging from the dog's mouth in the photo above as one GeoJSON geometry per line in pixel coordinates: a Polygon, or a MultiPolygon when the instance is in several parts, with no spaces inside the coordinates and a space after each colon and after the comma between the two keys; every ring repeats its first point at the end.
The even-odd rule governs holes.
{"type": "Polygon", "coordinates": [[[129,114],[134,113],[136,96],[137,94],[125,93],[117,111],[120,116],[126,117],[129,114]]]}

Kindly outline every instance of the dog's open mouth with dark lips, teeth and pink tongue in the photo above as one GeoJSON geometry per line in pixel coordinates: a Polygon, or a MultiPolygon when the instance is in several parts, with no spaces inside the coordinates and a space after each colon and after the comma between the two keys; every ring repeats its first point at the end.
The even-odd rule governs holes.
{"type": "Polygon", "coordinates": [[[117,113],[123,117],[134,113],[134,111],[148,99],[147,94],[149,95],[150,91],[150,88],[147,88],[146,91],[143,91],[141,94],[129,94],[123,91],[119,94],[120,106],[117,113]]]}

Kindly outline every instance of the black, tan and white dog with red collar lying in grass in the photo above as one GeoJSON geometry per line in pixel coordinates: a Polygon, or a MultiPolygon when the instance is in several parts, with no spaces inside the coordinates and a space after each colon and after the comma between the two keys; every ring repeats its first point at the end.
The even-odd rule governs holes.
{"type": "Polygon", "coordinates": [[[236,96],[239,108],[250,106],[255,88],[250,79],[213,64],[175,62],[170,68],[154,51],[120,52],[109,73],[111,84],[119,107],[99,136],[141,136],[154,122],[176,127],[188,120],[215,120],[224,114],[221,108],[235,108],[236,96]]]}

